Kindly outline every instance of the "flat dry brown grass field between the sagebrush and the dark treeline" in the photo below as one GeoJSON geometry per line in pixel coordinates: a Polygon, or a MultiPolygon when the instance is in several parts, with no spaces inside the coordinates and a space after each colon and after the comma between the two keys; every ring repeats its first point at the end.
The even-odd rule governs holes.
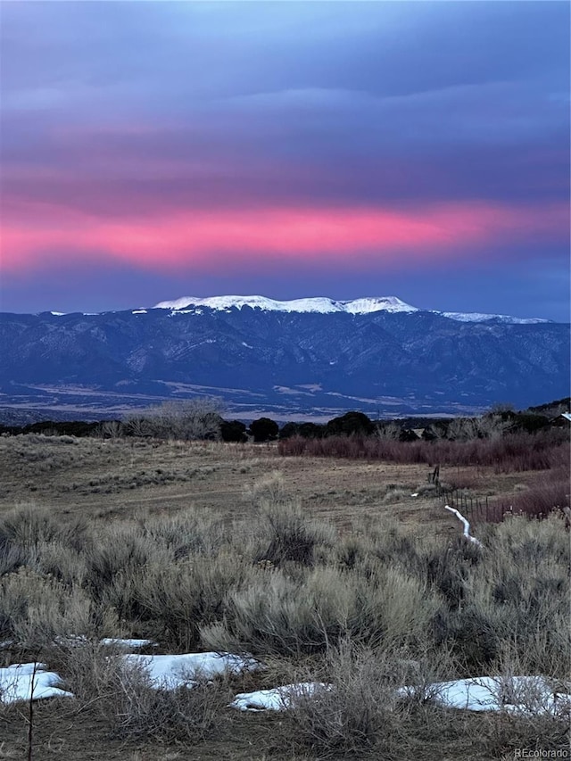
{"type": "MultiPolygon", "coordinates": [[[[434,462],[434,466],[438,463],[434,462]]],[[[150,442],[70,436],[0,438],[0,516],[19,504],[57,516],[105,518],[172,515],[190,506],[248,517],[248,492],[278,471],[288,497],[314,517],[348,527],[368,517],[396,518],[457,534],[458,525],[428,488],[433,467],[280,457],[277,444],[150,442]],[[418,497],[411,497],[418,493],[418,497]]],[[[444,483],[475,498],[509,503],[538,478],[534,471],[496,474],[492,467],[443,467],[444,483]]]]}

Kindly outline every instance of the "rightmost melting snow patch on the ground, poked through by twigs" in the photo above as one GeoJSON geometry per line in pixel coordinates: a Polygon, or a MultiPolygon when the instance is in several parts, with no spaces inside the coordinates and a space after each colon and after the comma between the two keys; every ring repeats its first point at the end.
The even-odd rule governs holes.
{"type": "Polygon", "coordinates": [[[440,706],[468,711],[556,714],[571,709],[571,695],[554,691],[542,676],[477,676],[435,682],[426,688],[401,687],[399,694],[405,697],[421,695],[440,706]]]}

